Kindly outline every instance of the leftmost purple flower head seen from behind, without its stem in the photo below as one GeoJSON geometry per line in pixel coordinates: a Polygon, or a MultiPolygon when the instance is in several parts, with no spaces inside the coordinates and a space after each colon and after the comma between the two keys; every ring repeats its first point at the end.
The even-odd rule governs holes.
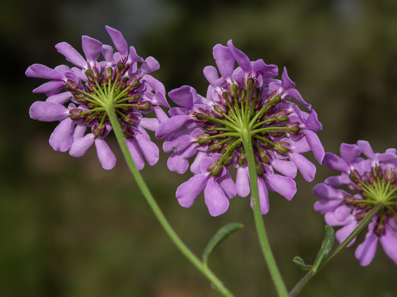
{"type": "Polygon", "coordinates": [[[112,169],[116,157],[104,140],[112,130],[108,116],[112,109],[132,158],[137,168],[142,169],[142,154],[149,165],[159,158],[159,150],[145,129],[156,131],[159,123],[168,118],[159,107],[169,107],[164,86],[149,75],[159,69],[159,64],[153,57],[143,60],[138,56],[119,31],[108,26],[106,30],[117,52],[98,40],[82,36],[85,58],[66,42],[55,46],[76,67],[60,65],[51,69],[33,64],[26,70],[28,77],[51,80],[33,90],[48,98],[34,102],[29,114],[40,121],[60,121],[50,137],[55,150],[69,150],[70,155],[79,157],[95,144],[102,167],[112,169]],[[104,60],[98,61],[101,53],[104,60]],[[65,92],[60,93],[61,90],[65,92]],[[67,107],[66,102],[70,102],[67,107]],[[157,118],[143,117],[142,114],[153,110],[157,118]]]}

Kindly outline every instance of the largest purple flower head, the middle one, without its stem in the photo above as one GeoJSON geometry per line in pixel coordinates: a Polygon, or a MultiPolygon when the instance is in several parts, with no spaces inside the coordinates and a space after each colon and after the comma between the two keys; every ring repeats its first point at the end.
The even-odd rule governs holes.
{"type": "Polygon", "coordinates": [[[324,148],[315,131],[322,125],[284,68],[281,80],[277,66],[260,59],[250,61],[246,54],[220,44],[213,48],[218,70],[204,68],[209,82],[206,97],[190,86],[169,93],[179,106],[169,110],[171,118],[157,129],[165,139],[163,149],[172,152],[168,168],[184,173],[189,158],[196,156],[190,169],[194,176],[183,183],[176,196],[183,207],[190,207],[204,191],[205,203],[213,216],[224,213],[229,199],[250,194],[250,181],[243,135],[248,135],[255,153],[261,211],[268,211],[267,189],[288,200],[296,193],[293,180],[299,170],[307,181],[316,172],[313,163],[301,153],[313,150],[321,162],[324,148]],[[235,62],[238,67],[235,68],[235,62]],[[302,111],[297,102],[309,109],[302,111]],[[180,131],[182,129],[182,131],[180,131]],[[229,173],[237,168],[236,183],[229,173]]]}

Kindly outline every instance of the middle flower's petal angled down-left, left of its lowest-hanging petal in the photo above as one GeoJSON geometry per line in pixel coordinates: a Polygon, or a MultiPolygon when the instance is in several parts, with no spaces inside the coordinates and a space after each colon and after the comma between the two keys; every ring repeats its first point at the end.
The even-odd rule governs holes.
{"type": "Polygon", "coordinates": [[[176,192],[176,198],[182,207],[190,207],[195,202],[199,194],[204,190],[207,184],[208,176],[196,174],[187,182],[180,185],[176,192]]]}

